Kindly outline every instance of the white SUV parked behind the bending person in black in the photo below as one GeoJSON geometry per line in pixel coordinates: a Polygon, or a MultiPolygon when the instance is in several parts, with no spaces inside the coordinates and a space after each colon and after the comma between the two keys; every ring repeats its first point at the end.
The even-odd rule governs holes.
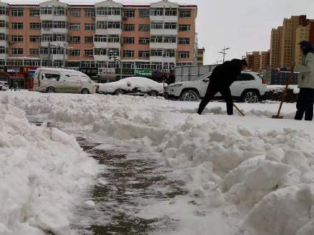
{"type": "MultiPolygon", "coordinates": [[[[184,81],[168,85],[166,94],[169,98],[179,98],[183,101],[197,101],[206,94],[211,73],[201,76],[197,80],[184,81]]],[[[243,71],[231,85],[231,95],[246,103],[257,103],[265,94],[267,85],[258,73],[243,71]]],[[[221,96],[220,93],[216,95],[221,96]]]]}

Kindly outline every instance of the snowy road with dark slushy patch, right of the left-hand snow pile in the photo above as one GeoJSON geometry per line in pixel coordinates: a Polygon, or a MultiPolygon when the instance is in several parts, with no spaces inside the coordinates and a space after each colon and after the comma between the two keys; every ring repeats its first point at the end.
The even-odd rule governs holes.
{"type": "Polygon", "coordinates": [[[273,120],[278,103],[238,104],[247,116],[228,117],[224,103],[200,116],[198,103],[163,98],[4,92],[0,101],[78,137],[102,163],[68,214],[76,234],[313,234],[314,127],[292,120],[295,104],[273,120]]]}

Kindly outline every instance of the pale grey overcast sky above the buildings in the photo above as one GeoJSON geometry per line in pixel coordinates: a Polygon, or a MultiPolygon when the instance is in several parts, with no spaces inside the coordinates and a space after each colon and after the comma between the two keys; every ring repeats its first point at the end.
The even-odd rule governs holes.
{"type": "MultiPolygon", "coordinates": [[[[41,2],[13,0],[9,3],[41,2]]],[[[98,2],[61,0],[71,4],[98,2]]],[[[101,0],[99,0],[101,1],[101,0]]],[[[122,4],[151,3],[158,0],[116,0],[122,4]]],[[[284,18],[306,14],[314,19],[314,0],[173,0],[179,4],[198,5],[196,31],[199,47],[206,48],[205,63],[222,59],[218,51],[231,47],[227,59],[241,58],[246,51],[267,51],[270,31],[282,25],[284,18]]]]}

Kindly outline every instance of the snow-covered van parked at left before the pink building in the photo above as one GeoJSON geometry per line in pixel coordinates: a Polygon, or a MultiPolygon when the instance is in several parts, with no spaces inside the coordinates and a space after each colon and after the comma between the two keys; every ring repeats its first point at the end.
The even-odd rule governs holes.
{"type": "Polygon", "coordinates": [[[96,84],[80,71],[63,68],[37,68],[34,90],[46,93],[96,93],[96,84]]]}

